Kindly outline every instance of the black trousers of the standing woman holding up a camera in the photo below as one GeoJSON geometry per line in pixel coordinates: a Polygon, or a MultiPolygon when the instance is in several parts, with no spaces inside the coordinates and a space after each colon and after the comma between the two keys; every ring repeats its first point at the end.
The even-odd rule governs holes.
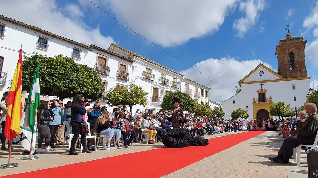
{"type": "Polygon", "coordinates": [[[75,143],[79,138],[79,134],[81,136],[81,143],[83,148],[86,147],[86,133],[83,132],[83,126],[80,122],[71,121],[72,133],[74,134],[71,140],[71,149],[75,149],[75,143]]]}

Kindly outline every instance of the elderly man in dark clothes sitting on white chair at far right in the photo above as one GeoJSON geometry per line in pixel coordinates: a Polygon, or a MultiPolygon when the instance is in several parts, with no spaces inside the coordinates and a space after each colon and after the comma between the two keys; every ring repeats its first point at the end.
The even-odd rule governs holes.
{"type": "Polygon", "coordinates": [[[293,138],[286,138],[282,143],[278,156],[268,158],[277,163],[288,163],[290,157],[293,155],[293,149],[301,144],[313,144],[318,129],[318,115],[317,106],[313,103],[305,105],[303,114],[307,114],[307,118],[302,124],[301,128],[297,129],[296,135],[293,138]]]}

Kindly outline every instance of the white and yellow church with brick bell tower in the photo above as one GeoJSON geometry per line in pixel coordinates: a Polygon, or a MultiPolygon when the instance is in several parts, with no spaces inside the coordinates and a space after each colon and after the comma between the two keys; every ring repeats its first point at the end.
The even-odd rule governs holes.
{"type": "Polygon", "coordinates": [[[305,65],[305,44],[303,37],[287,33],[276,46],[278,73],[263,64],[239,81],[241,89],[222,102],[225,118],[231,118],[236,109],[247,110],[249,119],[273,118],[269,106],[275,102],[285,102],[292,108],[305,102],[310,89],[310,78],[305,65]]]}

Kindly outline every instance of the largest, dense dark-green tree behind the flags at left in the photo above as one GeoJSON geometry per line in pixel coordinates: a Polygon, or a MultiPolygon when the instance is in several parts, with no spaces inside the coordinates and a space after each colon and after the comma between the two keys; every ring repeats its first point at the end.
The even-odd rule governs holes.
{"type": "Polygon", "coordinates": [[[39,63],[40,92],[43,96],[57,96],[60,100],[81,93],[92,100],[104,95],[104,84],[92,67],[77,64],[73,58],[42,54],[24,56],[22,62],[22,90],[29,92],[36,63],[39,63]]]}

